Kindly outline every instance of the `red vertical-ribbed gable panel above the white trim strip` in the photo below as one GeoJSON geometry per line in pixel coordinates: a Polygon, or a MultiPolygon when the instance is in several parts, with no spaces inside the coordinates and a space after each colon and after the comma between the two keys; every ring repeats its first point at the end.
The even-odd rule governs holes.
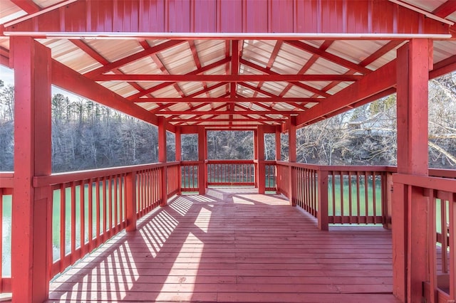
{"type": "MultiPolygon", "coordinates": [[[[187,1],[164,4],[76,1],[66,9],[53,10],[6,29],[128,32],[138,33],[138,37],[140,33],[208,33],[206,36],[199,35],[203,38],[214,36],[214,33],[447,33],[448,30],[446,24],[442,26],[438,21],[390,2],[293,3],[280,0],[265,4],[257,1],[219,1],[217,5],[195,6],[187,1]],[[314,13],[317,10],[318,18],[314,13]],[[49,20],[63,22],[46,22],[49,20]]],[[[252,34],[252,38],[255,36],[252,34]]]]}

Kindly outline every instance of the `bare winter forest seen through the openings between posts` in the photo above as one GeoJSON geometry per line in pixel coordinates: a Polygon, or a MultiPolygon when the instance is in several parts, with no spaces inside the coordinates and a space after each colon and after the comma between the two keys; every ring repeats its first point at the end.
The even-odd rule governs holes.
{"type": "MultiPolygon", "coordinates": [[[[431,80],[431,167],[456,167],[456,74],[431,80]]],[[[52,100],[53,172],[157,161],[157,127],[95,102],[56,94],[52,100]]],[[[395,95],[297,131],[299,162],[323,165],[395,165],[395,95]]],[[[0,82],[0,171],[13,170],[14,87],[0,82]]],[[[175,159],[168,133],[167,157],[175,159]]],[[[282,156],[286,160],[286,134],[282,156]]],[[[265,136],[266,159],[275,159],[274,134],[265,136]]],[[[253,132],[208,132],[209,159],[253,159],[253,132]]],[[[197,160],[197,135],[182,135],[182,160],[197,160]]]]}

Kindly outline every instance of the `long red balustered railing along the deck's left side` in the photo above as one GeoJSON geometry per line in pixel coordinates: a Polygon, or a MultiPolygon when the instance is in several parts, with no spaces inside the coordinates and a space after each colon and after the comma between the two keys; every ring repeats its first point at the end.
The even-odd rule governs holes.
{"type": "Polygon", "coordinates": [[[167,180],[167,195],[177,193],[179,163],[146,164],[114,169],[76,171],[33,178],[33,186],[51,185],[53,235],[58,234],[58,257],[53,258],[51,276],[62,272],[127,225],[128,203],[135,203],[140,218],[162,203],[162,182],[167,180]],[[165,176],[164,176],[165,174],[165,176]],[[163,179],[165,178],[165,179],[163,179]],[[128,196],[128,182],[135,188],[135,200],[128,196]],[[68,218],[68,213],[70,218],[68,218]],[[56,230],[58,233],[56,233],[56,230]]]}

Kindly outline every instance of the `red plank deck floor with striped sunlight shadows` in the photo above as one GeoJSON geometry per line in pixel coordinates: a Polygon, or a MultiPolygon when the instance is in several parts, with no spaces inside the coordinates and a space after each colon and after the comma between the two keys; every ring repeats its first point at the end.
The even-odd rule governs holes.
{"type": "Polygon", "coordinates": [[[331,228],[281,196],[180,196],[51,282],[49,302],[398,302],[391,234],[331,228]]]}

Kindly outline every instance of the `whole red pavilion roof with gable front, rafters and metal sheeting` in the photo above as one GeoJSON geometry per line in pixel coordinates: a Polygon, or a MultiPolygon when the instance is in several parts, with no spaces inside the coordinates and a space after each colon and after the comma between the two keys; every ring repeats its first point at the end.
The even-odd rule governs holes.
{"type": "Polygon", "coordinates": [[[51,48],[53,70],[118,96],[97,98],[58,72],[54,84],[120,110],[128,102],[149,122],[286,129],[394,92],[387,78],[410,38],[433,40],[431,77],[455,70],[455,11],[445,0],[2,0],[0,63],[12,66],[11,37],[32,36],[51,48]],[[349,89],[363,92],[341,100],[349,89]]]}

